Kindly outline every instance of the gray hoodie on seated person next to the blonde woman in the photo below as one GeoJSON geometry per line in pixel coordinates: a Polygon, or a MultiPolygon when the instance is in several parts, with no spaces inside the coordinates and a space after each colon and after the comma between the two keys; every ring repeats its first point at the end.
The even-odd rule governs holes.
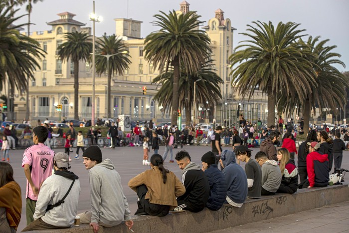
{"type": "Polygon", "coordinates": [[[262,188],[276,193],[281,184],[282,174],[275,160],[267,160],[262,166],[262,188]]]}

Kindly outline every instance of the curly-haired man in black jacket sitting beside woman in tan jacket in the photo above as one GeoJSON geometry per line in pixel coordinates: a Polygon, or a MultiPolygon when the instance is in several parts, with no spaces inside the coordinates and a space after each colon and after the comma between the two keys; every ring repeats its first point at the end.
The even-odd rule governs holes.
{"type": "Polygon", "coordinates": [[[206,206],[209,198],[209,183],[200,166],[191,162],[188,152],[179,151],[175,160],[182,170],[182,184],[185,193],[177,198],[178,206],[174,208],[178,211],[200,212],[206,206]]]}

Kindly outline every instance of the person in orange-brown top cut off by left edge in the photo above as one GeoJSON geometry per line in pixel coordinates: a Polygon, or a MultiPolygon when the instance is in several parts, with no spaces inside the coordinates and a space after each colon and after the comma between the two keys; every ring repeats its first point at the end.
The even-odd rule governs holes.
{"type": "Polygon", "coordinates": [[[9,163],[0,162],[0,232],[15,233],[20,222],[22,198],[9,163]]]}

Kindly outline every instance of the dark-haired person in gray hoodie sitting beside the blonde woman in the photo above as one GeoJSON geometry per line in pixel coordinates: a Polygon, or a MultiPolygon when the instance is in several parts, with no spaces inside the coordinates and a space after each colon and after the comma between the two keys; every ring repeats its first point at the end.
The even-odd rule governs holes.
{"type": "Polygon", "coordinates": [[[269,160],[263,151],[257,152],[254,158],[262,167],[262,196],[275,195],[282,179],[278,163],[273,159],[269,160]]]}

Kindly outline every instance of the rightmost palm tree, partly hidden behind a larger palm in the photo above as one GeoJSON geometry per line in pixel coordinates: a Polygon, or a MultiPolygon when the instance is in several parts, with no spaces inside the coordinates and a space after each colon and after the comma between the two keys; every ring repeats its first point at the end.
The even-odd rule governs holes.
{"type": "MultiPolygon", "coordinates": [[[[316,55],[310,57],[309,60],[314,63],[314,78],[317,85],[306,93],[305,99],[295,95],[295,98],[292,99],[282,96],[278,101],[279,110],[281,110],[281,106],[284,106],[287,112],[292,112],[294,106],[302,108],[305,134],[308,133],[311,109],[315,111],[315,108],[318,107],[322,113],[324,108],[329,108],[336,112],[335,109],[338,106],[343,108],[346,103],[345,87],[349,87],[349,80],[333,66],[342,65],[345,67],[345,64],[338,59],[341,54],[333,52],[333,49],[337,48],[336,45],[326,46],[328,41],[329,39],[320,41],[320,36],[315,38],[309,36],[308,41],[302,41],[308,45],[304,49],[316,55]]],[[[300,108],[297,109],[299,112],[300,108]]]]}

